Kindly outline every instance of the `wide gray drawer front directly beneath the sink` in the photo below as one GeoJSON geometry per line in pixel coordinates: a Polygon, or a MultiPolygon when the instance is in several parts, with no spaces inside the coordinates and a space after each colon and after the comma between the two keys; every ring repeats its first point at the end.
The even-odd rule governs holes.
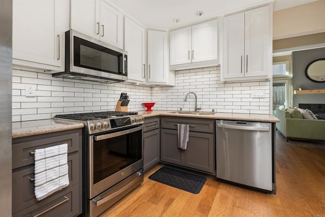
{"type": "Polygon", "coordinates": [[[177,130],[177,124],[189,125],[189,131],[214,133],[214,119],[162,117],[161,128],[177,130]]]}

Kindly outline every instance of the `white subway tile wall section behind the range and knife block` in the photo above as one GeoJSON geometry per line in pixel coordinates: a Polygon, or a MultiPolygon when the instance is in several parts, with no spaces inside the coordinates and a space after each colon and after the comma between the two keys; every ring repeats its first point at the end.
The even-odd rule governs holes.
{"type": "Polygon", "coordinates": [[[62,113],[114,110],[121,92],[127,92],[129,111],[145,110],[151,88],[125,83],[105,84],[53,78],[52,75],[13,70],[12,114],[14,121],[52,118],[62,113]],[[25,96],[25,84],[36,86],[36,97],[25,96]]]}

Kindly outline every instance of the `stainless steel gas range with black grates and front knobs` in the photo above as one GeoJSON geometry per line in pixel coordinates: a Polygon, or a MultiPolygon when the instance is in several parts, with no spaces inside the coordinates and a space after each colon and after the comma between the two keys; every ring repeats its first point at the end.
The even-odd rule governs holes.
{"type": "Polygon", "coordinates": [[[144,118],[137,112],[62,114],[54,118],[85,125],[87,216],[98,216],[143,182],[144,118]]]}

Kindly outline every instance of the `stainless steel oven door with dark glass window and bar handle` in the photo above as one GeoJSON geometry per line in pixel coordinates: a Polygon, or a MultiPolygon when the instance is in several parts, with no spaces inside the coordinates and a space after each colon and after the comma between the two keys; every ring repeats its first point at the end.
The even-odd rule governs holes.
{"type": "Polygon", "coordinates": [[[142,142],[142,125],[89,136],[88,199],[143,168],[142,142]]]}

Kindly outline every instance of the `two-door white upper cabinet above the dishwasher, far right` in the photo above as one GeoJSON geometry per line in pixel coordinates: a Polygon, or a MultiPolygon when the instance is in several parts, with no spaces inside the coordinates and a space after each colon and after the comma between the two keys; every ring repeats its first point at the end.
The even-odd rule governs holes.
{"type": "Polygon", "coordinates": [[[272,76],[271,6],[223,19],[221,80],[261,79],[272,76]]]}

